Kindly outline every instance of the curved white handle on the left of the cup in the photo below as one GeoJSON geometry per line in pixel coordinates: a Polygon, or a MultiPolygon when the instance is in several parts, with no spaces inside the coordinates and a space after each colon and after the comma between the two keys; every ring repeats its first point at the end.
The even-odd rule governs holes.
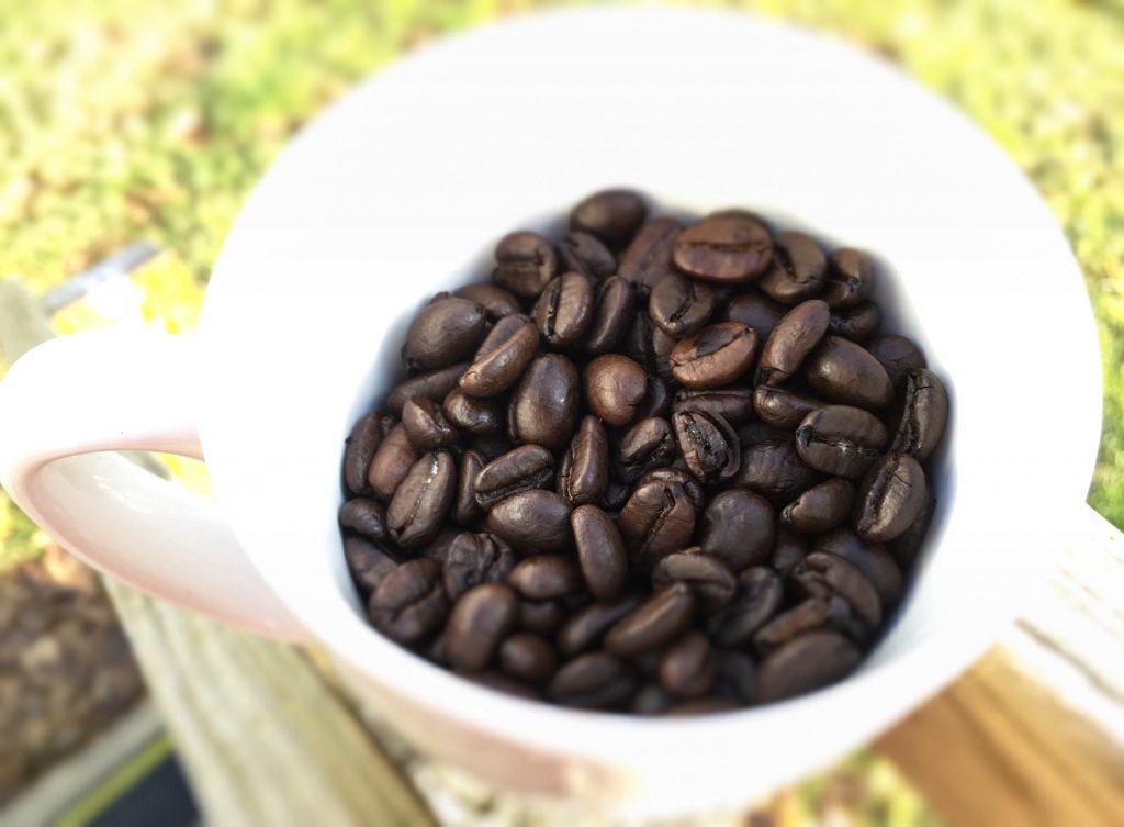
{"type": "Polygon", "coordinates": [[[215,500],[114,453],[202,459],[199,370],[188,335],[98,331],[38,345],[0,381],[0,484],[97,568],[187,609],[302,640],[215,500]]]}

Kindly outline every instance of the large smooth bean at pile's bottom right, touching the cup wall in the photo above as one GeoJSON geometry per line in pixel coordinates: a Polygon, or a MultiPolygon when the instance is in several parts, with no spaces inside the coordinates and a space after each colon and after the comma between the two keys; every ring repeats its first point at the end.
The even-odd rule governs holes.
{"type": "Polygon", "coordinates": [[[767,657],[758,669],[762,702],[780,701],[835,683],[849,675],[862,655],[839,632],[812,631],[767,657]]]}

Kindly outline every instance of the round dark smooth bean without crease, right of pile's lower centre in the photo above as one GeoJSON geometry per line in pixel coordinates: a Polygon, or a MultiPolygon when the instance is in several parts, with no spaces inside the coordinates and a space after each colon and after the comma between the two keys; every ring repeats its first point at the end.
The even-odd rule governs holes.
{"type": "Polygon", "coordinates": [[[776,523],[769,501],[745,488],[716,494],[703,512],[699,546],[734,572],[760,565],[772,554],[776,523]]]}

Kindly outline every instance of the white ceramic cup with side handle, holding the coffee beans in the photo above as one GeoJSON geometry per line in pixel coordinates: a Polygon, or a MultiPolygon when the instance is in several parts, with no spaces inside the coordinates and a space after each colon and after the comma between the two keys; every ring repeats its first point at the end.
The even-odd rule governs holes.
{"type": "Polygon", "coordinates": [[[1050,213],[889,65],[745,16],[586,10],[426,47],[333,106],[247,201],[197,339],[70,336],[0,385],[0,474],[67,548],[178,603],[348,664],[410,743],[507,789],[631,812],[740,803],[951,680],[1079,519],[1096,339],[1050,213]],[[433,293],[610,185],[745,206],[873,252],[888,327],[952,396],[921,575],[856,675],[760,709],[595,714],[480,689],[366,624],[336,528],[352,423],[433,293]],[[215,501],[112,453],[205,457],[215,501]]]}

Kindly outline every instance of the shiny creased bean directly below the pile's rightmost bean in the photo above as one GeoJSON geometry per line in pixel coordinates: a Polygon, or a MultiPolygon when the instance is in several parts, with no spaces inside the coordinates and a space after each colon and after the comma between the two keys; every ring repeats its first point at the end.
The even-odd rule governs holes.
{"type": "Polygon", "coordinates": [[[887,453],[867,471],[854,504],[855,531],[868,542],[905,533],[925,507],[925,471],[908,453],[887,453]]]}

